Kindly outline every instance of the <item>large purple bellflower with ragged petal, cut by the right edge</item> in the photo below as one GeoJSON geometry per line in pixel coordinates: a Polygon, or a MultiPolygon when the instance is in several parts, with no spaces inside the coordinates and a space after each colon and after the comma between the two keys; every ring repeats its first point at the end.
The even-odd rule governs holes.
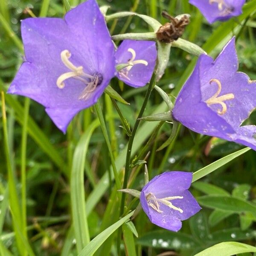
{"type": "Polygon", "coordinates": [[[256,150],[256,126],[241,126],[256,108],[256,81],[237,69],[235,38],[215,61],[201,55],[177,96],[172,114],[195,132],[256,150]]]}

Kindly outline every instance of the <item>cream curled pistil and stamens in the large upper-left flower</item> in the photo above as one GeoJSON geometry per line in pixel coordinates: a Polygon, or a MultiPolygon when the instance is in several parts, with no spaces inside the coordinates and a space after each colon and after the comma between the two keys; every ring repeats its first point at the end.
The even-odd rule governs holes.
{"type": "Polygon", "coordinates": [[[83,67],[79,66],[76,67],[69,58],[71,57],[71,53],[68,50],[64,50],[61,52],[61,61],[63,64],[70,69],[70,72],[63,73],[61,76],[58,77],[56,84],[60,89],[65,87],[64,81],[69,78],[78,79],[86,84],[86,87],[82,91],[79,96],[79,99],[88,99],[91,93],[96,89],[98,85],[102,83],[103,76],[102,74],[95,72],[92,76],[84,73],[83,67]]]}

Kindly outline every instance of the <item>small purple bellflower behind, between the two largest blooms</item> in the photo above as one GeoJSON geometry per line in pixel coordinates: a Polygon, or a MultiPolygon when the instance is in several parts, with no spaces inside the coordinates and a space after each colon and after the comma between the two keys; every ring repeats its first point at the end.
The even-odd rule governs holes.
{"type": "Polygon", "coordinates": [[[156,43],[151,41],[124,40],[116,50],[117,64],[128,64],[116,76],[132,87],[147,84],[157,59],[156,43]]]}

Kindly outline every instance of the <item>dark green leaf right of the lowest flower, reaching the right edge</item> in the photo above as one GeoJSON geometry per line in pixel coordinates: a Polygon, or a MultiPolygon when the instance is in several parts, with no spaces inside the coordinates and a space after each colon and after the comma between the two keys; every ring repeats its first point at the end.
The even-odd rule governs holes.
{"type": "Polygon", "coordinates": [[[206,195],[197,198],[199,204],[212,209],[236,213],[252,212],[256,216],[256,205],[229,196],[206,195]]]}

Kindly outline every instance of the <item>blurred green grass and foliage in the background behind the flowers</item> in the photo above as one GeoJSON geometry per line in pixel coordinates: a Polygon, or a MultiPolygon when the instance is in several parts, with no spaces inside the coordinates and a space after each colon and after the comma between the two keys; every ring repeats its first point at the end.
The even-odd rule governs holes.
{"type": "MultiPolygon", "coordinates": [[[[70,6],[79,3],[79,0],[70,0],[70,6]]],[[[173,16],[189,13],[191,23],[183,38],[204,46],[214,57],[232,35],[239,35],[239,71],[247,73],[251,79],[256,79],[256,7],[250,8],[240,22],[233,19],[227,23],[217,22],[209,26],[201,13],[189,5],[187,0],[98,0],[98,3],[100,6],[111,6],[109,13],[132,10],[154,17],[161,23],[167,22],[160,15],[162,10],[173,16]],[[245,24],[244,18],[247,17],[245,24]]],[[[31,15],[63,17],[64,13],[63,3],[57,0],[0,0],[1,90],[6,91],[23,61],[23,49],[19,39],[20,20],[31,15]]],[[[108,27],[113,35],[148,32],[149,29],[138,17],[114,20],[108,27]]],[[[172,48],[168,69],[158,85],[167,93],[177,96],[192,70],[191,63],[195,63],[193,56],[172,48]]],[[[117,103],[133,127],[146,87],[133,89],[116,79],[111,81],[111,86],[131,104],[117,103]]],[[[101,104],[103,114],[107,116],[106,124],[116,167],[121,169],[125,163],[124,148],[128,137],[119,128],[121,122],[109,96],[103,95],[101,104]]],[[[78,154],[74,154],[74,150],[84,132],[92,128],[93,120],[97,119],[96,113],[93,108],[79,113],[64,135],[49,119],[44,108],[36,102],[3,94],[1,107],[1,255],[77,255],[71,217],[70,175],[73,163],[84,159],[83,154],[79,155],[79,147],[78,154]],[[73,158],[73,154],[77,158],[73,158]]],[[[160,96],[153,91],[144,115],[164,110],[165,105],[160,96]]],[[[246,122],[256,124],[255,113],[246,122]]],[[[96,130],[91,131],[91,137],[89,133],[90,143],[84,162],[86,214],[91,239],[119,220],[116,210],[119,206],[118,192],[115,183],[109,181],[108,177],[111,166],[108,147],[99,123],[95,121],[94,124],[92,129],[96,130]]],[[[150,137],[156,124],[147,123],[140,127],[138,133],[143,136],[140,140],[135,140],[134,151],[137,152],[150,137]]],[[[170,132],[170,125],[164,124],[157,139],[150,145],[151,154],[146,159],[150,178],[167,170],[195,172],[242,148],[235,143],[201,136],[182,127],[175,144],[156,152],[170,132]]],[[[84,139],[86,140],[85,137],[84,139]]],[[[80,148],[83,150],[82,146],[80,148]]],[[[141,189],[143,186],[143,168],[137,166],[132,171],[129,184],[134,189],[141,189]]],[[[121,179],[122,176],[121,171],[121,179]]],[[[122,227],[125,241],[125,244],[122,242],[123,250],[126,247],[125,251],[129,256],[157,255],[165,250],[176,250],[180,255],[186,256],[194,255],[221,241],[242,241],[255,245],[255,212],[243,208],[243,203],[247,204],[248,201],[253,207],[256,206],[255,181],[256,153],[250,150],[193,183],[193,194],[206,207],[190,220],[184,221],[180,232],[172,233],[154,226],[141,212],[134,220],[137,230],[134,233],[138,233],[138,239],[132,235],[131,230],[135,230],[134,227],[126,224],[122,227]],[[231,198],[228,204],[225,201],[227,196],[231,198]],[[231,209],[234,198],[239,198],[239,202],[236,209],[231,209]]],[[[128,198],[126,205],[129,209],[134,209],[137,203],[138,201],[128,198]]],[[[115,241],[116,233],[113,233],[96,255],[116,255],[115,241]]]]}

